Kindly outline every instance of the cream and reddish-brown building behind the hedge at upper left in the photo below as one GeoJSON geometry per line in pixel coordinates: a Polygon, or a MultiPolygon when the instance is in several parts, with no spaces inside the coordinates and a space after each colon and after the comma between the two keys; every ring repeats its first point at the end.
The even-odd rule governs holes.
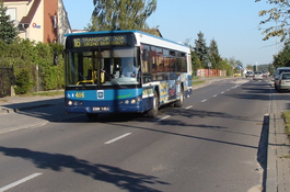
{"type": "Polygon", "coordinates": [[[22,38],[43,43],[63,43],[71,33],[62,0],[3,0],[22,38]]]}

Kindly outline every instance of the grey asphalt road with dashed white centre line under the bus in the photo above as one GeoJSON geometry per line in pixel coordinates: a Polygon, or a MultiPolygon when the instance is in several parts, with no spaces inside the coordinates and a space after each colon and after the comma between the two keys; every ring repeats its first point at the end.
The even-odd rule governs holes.
{"type": "Polygon", "coordinates": [[[0,134],[0,191],[262,191],[271,95],[268,80],[223,79],[158,120],[32,109],[46,123],[0,134]]]}

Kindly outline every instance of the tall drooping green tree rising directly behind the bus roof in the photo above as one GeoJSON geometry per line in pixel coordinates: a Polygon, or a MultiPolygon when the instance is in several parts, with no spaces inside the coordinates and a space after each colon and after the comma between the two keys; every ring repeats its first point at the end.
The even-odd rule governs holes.
{"type": "Polygon", "coordinates": [[[93,0],[90,31],[142,30],[156,0],[93,0]]]}

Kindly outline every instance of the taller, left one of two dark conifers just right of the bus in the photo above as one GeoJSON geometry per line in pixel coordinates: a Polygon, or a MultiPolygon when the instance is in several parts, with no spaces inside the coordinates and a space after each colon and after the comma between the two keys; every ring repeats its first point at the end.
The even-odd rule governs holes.
{"type": "Polygon", "coordinates": [[[201,61],[205,68],[208,67],[208,47],[206,39],[204,37],[204,33],[199,32],[197,34],[197,39],[195,41],[195,53],[198,59],[201,61]]]}

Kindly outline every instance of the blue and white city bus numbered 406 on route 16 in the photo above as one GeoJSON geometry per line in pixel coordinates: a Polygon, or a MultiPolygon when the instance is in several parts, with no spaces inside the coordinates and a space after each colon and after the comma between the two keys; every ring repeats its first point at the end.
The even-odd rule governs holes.
{"type": "Polygon", "coordinates": [[[96,118],[104,113],[143,113],[182,108],[192,94],[189,47],[140,31],[66,35],[65,110],[96,118]],[[129,63],[131,71],[126,71],[129,63]]]}

